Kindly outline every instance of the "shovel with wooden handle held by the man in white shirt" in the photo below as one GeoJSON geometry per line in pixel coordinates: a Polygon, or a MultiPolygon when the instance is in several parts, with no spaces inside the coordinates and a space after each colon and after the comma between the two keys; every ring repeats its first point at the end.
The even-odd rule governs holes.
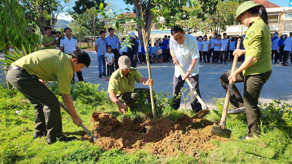
{"type": "MultiPolygon", "coordinates": [[[[180,69],[180,71],[183,74],[183,76],[185,76],[185,72],[183,71],[183,68],[180,66],[179,63],[178,63],[178,68],[180,69]]],[[[192,91],[194,92],[194,95],[196,96],[197,100],[200,102],[200,104],[204,108],[203,110],[200,110],[196,115],[192,116],[191,118],[200,119],[200,118],[206,116],[209,113],[209,108],[205,105],[205,103],[202,101],[201,97],[195,91],[195,89],[192,86],[190,80],[188,78],[186,78],[185,81],[187,81],[187,83],[189,84],[190,88],[192,88],[192,91]]]]}

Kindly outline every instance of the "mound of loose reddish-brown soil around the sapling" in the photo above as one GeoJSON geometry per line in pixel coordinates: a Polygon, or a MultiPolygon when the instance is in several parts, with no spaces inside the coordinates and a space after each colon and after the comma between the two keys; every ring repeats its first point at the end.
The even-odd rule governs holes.
{"type": "MultiPolygon", "coordinates": [[[[179,151],[183,151],[187,155],[196,156],[197,150],[216,148],[208,142],[211,139],[228,141],[210,133],[212,123],[192,120],[186,116],[177,123],[166,118],[132,122],[125,119],[121,123],[111,114],[94,112],[91,121],[97,131],[94,134],[98,138],[97,144],[107,150],[118,148],[134,153],[146,149],[151,154],[164,156],[176,156],[179,151]]],[[[84,138],[88,139],[89,136],[84,138]]]]}

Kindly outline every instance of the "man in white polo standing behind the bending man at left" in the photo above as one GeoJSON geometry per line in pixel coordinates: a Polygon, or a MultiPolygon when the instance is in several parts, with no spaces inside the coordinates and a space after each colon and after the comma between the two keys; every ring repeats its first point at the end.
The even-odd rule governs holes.
{"type": "MultiPolygon", "coordinates": [[[[67,27],[64,29],[65,36],[60,40],[60,46],[59,49],[62,51],[64,49],[64,53],[70,54],[75,50],[79,50],[78,44],[77,44],[77,39],[71,36],[72,30],[67,27]]],[[[82,77],[82,72],[76,72],[78,80],[79,81],[84,81],[82,77]]],[[[75,84],[75,79],[74,77],[72,78],[73,83],[75,84]]],[[[86,82],[86,81],[85,81],[86,82]]]]}

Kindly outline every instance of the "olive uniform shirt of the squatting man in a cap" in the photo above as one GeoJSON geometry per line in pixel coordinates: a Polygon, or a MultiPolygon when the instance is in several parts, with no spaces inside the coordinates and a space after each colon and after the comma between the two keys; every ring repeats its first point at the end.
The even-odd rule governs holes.
{"type": "Polygon", "coordinates": [[[134,92],[135,81],[139,83],[142,74],[135,68],[131,68],[128,77],[123,76],[120,69],[114,71],[109,79],[109,87],[107,93],[113,92],[116,96],[120,96],[126,92],[134,92]]]}

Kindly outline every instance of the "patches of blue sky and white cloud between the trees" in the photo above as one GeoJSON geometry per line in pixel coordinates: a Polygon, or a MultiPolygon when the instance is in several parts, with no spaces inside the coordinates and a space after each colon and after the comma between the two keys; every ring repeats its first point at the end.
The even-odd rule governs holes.
{"type": "MultiPolygon", "coordinates": [[[[279,6],[282,6],[282,7],[287,7],[288,6],[288,1],[289,0],[269,0],[270,2],[274,3],[274,4],[277,4],[279,6]]],[[[129,5],[126,5],[126,3],[123,1],[123,0],[112,0],[112,2],[114,4],[116,4],[118,6],[118,8],[122,8],[122,9],[125,9],[125,8],[128,8],[129,5]]],[[[133,5],[129,7],[130,10],[132,11],[132,8],[133,8],[133,5]]],[[[124,11],[126,12],[126,11],[124,11]]],[[[70,16],[65,16],[65,13],[62,13],[58,16],[59,19],[65,19],[65,20],[72,20],[72,18],[70,16]]]]}

